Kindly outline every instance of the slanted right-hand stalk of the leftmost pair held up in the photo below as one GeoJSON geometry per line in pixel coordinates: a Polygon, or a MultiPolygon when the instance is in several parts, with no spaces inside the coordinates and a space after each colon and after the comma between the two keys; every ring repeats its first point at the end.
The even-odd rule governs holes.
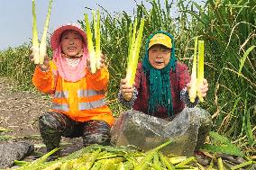
{"type": "Polygon", "coordinates": [[[49,27],[49,21],[50,21],[51,4],[52,4],[52,0],[50,0],[49,6],[48,6],[48,14],[46,17],[46,21],[45,21],[42,36],[41,36],[41,42],[39,47],[39,56],[40,56],[39,63],[40,64],[43,64],[44,57],[46,55],[46,38],[47,38],[47,31],[49,27]]]}

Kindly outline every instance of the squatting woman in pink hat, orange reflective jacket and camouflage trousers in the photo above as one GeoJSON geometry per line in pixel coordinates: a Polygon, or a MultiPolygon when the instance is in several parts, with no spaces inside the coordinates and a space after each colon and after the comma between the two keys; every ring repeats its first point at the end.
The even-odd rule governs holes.
{"type": "MultiPolygon", "coordinates": [[[[105,105],[109,73],[101,55],[101,67],[90,73],[87,35],[76,24],[59,27],[50,38],[53,58],[37,65],[32,83],[52,94],[50,112],[39,118],[41,138],[47,150],[59,148],[61,136],[83,138],[84,146],[108,145],[114,117],[105,105]]],[[[56,154],[59,157],[59,153],[56,154]]]]}

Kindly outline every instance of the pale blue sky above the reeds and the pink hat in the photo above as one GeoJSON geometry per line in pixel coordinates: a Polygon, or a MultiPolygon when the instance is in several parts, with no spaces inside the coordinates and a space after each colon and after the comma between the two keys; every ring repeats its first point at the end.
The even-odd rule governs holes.
{"type": "MultiPolygon", "coordinates": [[[[35,0],[35,3],[37,27],[41,39],[49,0],[35,0]]],[[[123,10],[133,13],[136,5],[134,0],[53,0],[49,32],[54,31],[61,24],[83,19],[84,13],[90,13],[85,7],[97,9],[97,4],[105,7],[110,13],[123,10]]],[[[0,0],[0,12],[0,50],[29,42],[32,38],[32,0],[0,0]]]]}

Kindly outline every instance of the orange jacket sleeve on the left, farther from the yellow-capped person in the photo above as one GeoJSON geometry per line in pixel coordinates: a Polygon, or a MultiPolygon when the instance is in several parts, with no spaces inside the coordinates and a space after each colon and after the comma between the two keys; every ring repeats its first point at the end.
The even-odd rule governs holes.
{"type": "Polygon", "coordinates": [[[54,94],[55,84],[52,75],[52,63],[50,63],[50,69],[46,72],[41,71],[40,67],[35,67],[32,84],[44,94],[54,94]]]}

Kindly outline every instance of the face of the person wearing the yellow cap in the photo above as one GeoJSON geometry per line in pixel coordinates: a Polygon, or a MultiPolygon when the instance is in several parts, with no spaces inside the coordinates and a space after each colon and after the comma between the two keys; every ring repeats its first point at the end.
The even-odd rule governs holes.
{"type": "Polygon", "coordinates": [[[151,66],[156,69],[162,69],[169,64],[170,49],[156,44],[149,49],[149,61],[151,66]]]}

